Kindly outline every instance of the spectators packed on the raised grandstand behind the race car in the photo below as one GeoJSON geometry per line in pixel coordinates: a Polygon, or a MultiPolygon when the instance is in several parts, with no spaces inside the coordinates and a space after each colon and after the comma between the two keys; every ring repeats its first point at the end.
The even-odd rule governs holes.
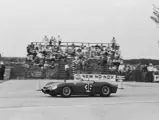
{"type": "Polygon", "coordinates": [[[111,65],[110,69],[117,69],[121,62],[120,47],[115,37],[109,44],[64,44],[61,36],[50,39],[45,36],[42,42],[31,43],[27,46],[26,62],[32,65],[54,67],[55,61],[73,58],[73,63],[84,68],[90,59],[100,61],[100,65],[111,65]],[[113,67],[115,66],[115,67],[113,67]]]}

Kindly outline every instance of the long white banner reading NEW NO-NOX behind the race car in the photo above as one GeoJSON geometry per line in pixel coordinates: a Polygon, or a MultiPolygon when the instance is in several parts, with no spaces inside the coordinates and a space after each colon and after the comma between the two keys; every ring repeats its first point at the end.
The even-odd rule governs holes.
{"type": "Polygon", "coordinates": [[[116,81],[116,75],[103,74],[75,74],[74,80],[110,80],[116,81]]]}

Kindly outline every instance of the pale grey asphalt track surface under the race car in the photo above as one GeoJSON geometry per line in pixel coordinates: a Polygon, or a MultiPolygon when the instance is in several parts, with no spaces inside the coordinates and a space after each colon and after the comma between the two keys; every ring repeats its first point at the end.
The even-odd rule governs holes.
{"type": "Polygon", "coordinates": [[[1,83],[0,120],[159,120],[159,83],[124,82],[106,98],[50,97],[38,87],[38,80],[1,83]]]}

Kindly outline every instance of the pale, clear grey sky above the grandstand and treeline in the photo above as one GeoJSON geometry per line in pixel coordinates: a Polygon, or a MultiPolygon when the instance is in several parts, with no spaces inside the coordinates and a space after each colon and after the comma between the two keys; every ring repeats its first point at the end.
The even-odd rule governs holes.
{"type": "Polygon", "coordinates": [[[112,37],[124,59],[159,59],[159,26],[151,19],[158,0],[0,0],[0,53],[25,57],[30,42],[47,35],[69,42],[112,37]]]}

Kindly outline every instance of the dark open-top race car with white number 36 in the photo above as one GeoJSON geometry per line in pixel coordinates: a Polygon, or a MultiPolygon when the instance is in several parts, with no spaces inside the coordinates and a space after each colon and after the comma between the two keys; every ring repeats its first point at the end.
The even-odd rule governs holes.
{"type": "Polygon", "coordinates": [[[61,95],[70,97],[71,95],[89,95],[99,94],[102,97],[108,97],[111,93],[116,93],[118,85],[110,81],[84,81],[71,80],[66,82],[49,82],[43,88],[44,94],[51,96],[61,95]]]}

